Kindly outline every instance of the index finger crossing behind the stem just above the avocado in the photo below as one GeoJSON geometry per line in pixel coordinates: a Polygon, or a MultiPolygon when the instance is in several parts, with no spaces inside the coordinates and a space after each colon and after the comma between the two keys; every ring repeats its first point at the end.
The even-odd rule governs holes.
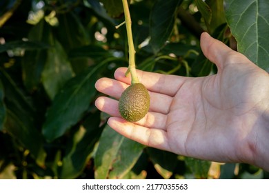
{"type": "MultiPolygon", "coordinates": [[[[119,81],[130,84],[131,78],[130,76],[125,76],[126,70],[127,68],[118,68],[114,72],[114,77],[119,81]]],[[[137,76],[139,81],[141,81],[148,90],[169,96],[175,96],[184,81],[190,79],[188,77],[145,72],[142,70],[137,70],[137,76]]]]}

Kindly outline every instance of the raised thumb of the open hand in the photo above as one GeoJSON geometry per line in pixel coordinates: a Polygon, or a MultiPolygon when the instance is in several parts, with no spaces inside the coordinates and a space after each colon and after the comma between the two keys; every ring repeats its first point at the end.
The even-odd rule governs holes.
{"type": "Polygon", "coordinates": [[[219,70],[223,68],[223,65],[230,59],[232,54],[239,54],[235,52],[223,42],[210,37],[207,32],[201,34],[201,49],[205,57],[207,57],[212,63],[215,63],[219,70]]]}

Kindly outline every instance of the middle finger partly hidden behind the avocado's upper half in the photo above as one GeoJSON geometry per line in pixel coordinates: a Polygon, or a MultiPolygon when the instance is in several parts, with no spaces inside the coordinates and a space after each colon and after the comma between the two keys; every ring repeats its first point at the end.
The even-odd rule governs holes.
{"type": "MultiPolygon", "coordinates": [[[[128,88],[128,84],[116,81],[114,79],[102,78],[95,83],[95,88],[103,94],[108,94],[109,96],[119,99],[121,93],[128,88]]],[[[167,114],[170,109],[170,104],[172,103],[172,97],[159,94],[155,92],[150,92],[150,111],[160,112],[167,114]]]]}

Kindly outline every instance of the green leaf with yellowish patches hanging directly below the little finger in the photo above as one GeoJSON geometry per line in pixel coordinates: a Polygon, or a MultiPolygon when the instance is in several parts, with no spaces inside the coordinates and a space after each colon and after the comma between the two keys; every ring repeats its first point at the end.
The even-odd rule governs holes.
{"type": "Polygon", "coordinates": [[[108,125],[103,130],[94,157],[95,179],[121,179],[128,174],[144,146],[118,134],[108,125]]]}

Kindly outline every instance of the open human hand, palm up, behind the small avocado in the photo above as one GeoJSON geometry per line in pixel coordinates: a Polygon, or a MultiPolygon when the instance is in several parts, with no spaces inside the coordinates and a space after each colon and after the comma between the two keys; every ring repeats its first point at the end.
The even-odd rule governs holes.
{"type": "Polygon", "coordinates": [[[269,161],[268,73],[207,33],[201,48],[216,63],[217,74],[190,78],[137,70],[150,92],[150,111],[140,121],[121,119],[115,100],[130,85],[127,68],[116,70],[116,80],[97,81],[97,90],[114,98],[99,97],[97,108],[111,115],[111,128],[150,147],[269,169],[264,161],[269,161]],[[261,154],[266,157],[260,160],[261,154]]]}

